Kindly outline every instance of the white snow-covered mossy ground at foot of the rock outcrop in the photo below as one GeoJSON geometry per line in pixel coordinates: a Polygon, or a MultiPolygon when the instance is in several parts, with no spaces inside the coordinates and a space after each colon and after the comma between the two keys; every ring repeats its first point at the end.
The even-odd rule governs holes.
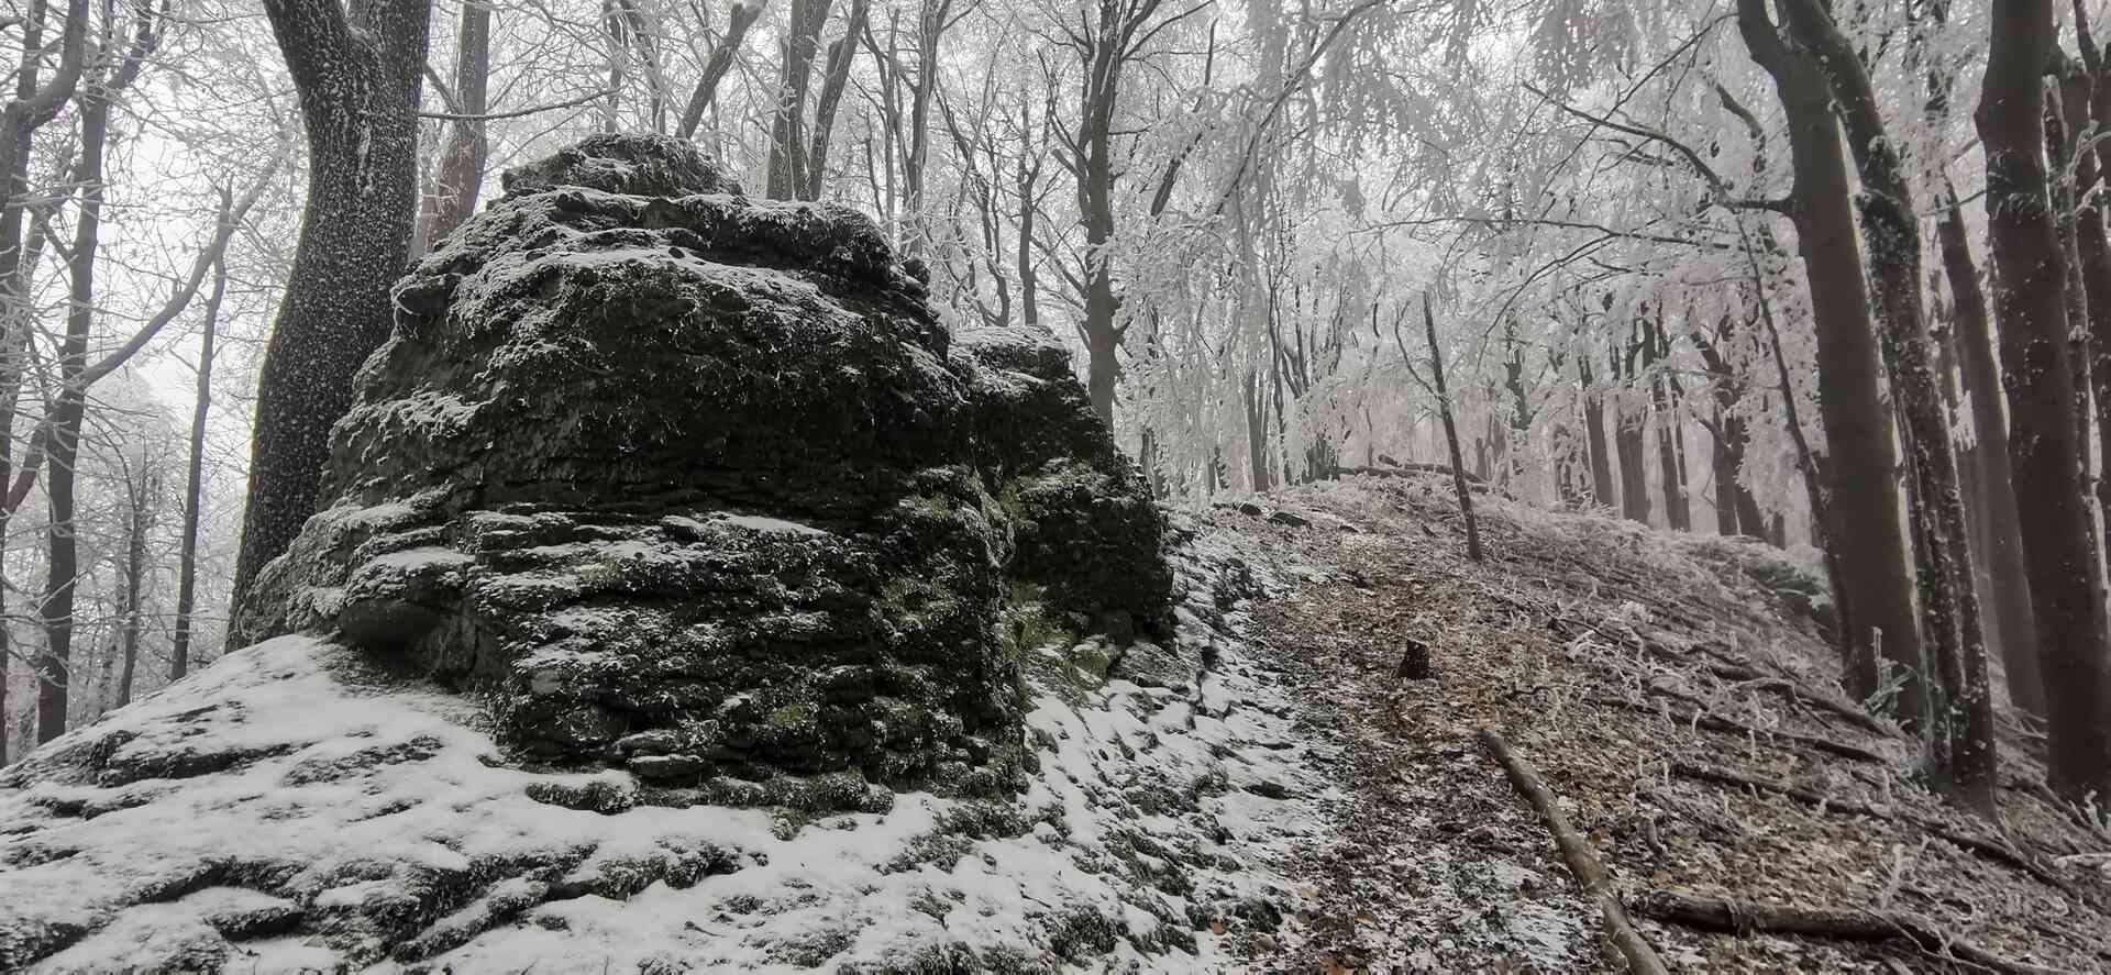
{"type": "MultiPolygon", "coordinates": [[[[1239,635],[1267,572],[1182,530],[1180,686],[1028,671],[1026,787],[659,804],[515,768],[475,696],[285,635],[0,779],[0,969],[1237,967],[1326,785],[1239,635]]],[[[1117,667],[1119,673],[1119,667],[1117,667]]]]}

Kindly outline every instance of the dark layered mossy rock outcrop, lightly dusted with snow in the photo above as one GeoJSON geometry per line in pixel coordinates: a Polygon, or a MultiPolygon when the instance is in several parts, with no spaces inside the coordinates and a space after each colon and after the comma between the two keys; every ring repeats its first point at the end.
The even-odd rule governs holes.
{"type": "Polygon", "coordinates": [[[872,222],[593,137],[397,285],[232,644],[338,631],[515,760],[682,796],[1007,791],[1022,642],[1167,637],[1163,519],[1047,336],[952,342],[872,222]]]}

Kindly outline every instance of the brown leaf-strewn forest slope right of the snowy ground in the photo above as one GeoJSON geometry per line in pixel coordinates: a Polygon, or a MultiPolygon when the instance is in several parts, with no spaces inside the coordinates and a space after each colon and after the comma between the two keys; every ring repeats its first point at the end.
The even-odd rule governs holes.
{"type": "Polygon", "coordinates": [[[1248,663],[1300,703],[1302,732],[1338,745],[1311,751],[1338,791],[1286,867],[1307,907],[1248,943],[1269,971],[1621,969],[1482,728],[1539,768],[1636,914],[1670,891],[1889,912],[1891,933],[1919,933],[1640,916],[1672,971],[2111,971],[2111,836],[2056,804],[2012,715],[2001,829],[1917,785],[1917,743],[1856,720],[1839,692],[1799,608],[1811,568],[1486,494],[1476,509],[1478,566],[1450,483],[1431,477],[1294,488],[1207,517],[1305,566],[1296,593],[1254,606],[1248,663]],[[1410,646],[1431,677],[1400,677],[1410,646]]]}

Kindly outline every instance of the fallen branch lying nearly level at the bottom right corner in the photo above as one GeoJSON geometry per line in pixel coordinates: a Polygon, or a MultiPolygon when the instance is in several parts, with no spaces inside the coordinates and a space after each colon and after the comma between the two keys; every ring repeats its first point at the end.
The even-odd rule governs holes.
{"type": "Polygon", "coordinates": [[[1680,891],[1642,895],[1634,903],[1634,910],[1644,918],[1733,935],[1767,933],[1841,941],[1906,941],[1929,956],[1961,960],[1999,973],[2050,975],[2065,971],[1993,954],[1940,929],[1934,920],[1908,912],[1794,907],[1731,897],[1701,897],[1680,891]]]}

